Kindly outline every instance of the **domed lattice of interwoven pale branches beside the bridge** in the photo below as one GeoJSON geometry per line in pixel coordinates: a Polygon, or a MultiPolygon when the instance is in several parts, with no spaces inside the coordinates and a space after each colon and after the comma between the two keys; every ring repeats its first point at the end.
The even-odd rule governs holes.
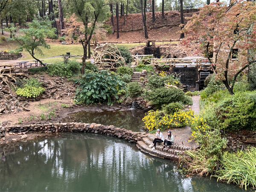
{"type": "Polygon", "coordinates": [[[94,64],[100,69],[118,68],[125,65],[125,59],[122,58],[120,51],[116,45],[101,44],[93,50],[94,64]],[[122,63],[122,64],[121,64],[122,63]]]}

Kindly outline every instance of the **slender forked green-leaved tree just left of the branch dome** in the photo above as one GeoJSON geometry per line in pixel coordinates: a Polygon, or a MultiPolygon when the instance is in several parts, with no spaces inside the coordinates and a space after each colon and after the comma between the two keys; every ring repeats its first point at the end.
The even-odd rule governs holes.
{"type": "MultiPolygon", "coordinates": [[[[105,20],[109,11],[105,5],[105,0],[67,0],[67,2],[68,7],[70,8],[69,11],[74,13],[77,22],[83,24],[83,26],[76,26],[74,29],[71,27],[68,34],[71,35],[75,31],[80,32],[79,41],[84,49],[81,73],[84,74],[87,58],[87,45],[92,38],[96,23],[105,20]]],[[[70,24],[72,26],[72,23],[70,24]]]]}

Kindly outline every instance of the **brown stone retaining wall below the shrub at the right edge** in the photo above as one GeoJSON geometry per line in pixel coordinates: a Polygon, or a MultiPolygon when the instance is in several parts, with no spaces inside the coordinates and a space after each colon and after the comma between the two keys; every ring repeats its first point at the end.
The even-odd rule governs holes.
{"type": "Polygon", "coordinates": [[[221,137],[227,138],[227,150],[237,151],[247,149],[248,146],[256,147],[256,131],[222,132],[221,137]]]}

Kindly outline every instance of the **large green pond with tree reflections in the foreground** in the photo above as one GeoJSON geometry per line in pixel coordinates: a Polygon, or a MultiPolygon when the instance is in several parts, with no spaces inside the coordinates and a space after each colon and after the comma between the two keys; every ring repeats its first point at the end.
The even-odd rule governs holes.
{"type": "Polygon", "coordinates": [[[63,133],[13,143],[4,153],[0,191],[242,191],[209,177],[183,177],[175,163],[105,135],[63,133]]]}

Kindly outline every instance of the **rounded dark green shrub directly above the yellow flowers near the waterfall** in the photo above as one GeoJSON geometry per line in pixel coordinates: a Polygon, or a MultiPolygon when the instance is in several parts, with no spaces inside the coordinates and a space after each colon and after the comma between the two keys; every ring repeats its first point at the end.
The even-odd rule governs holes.
{"type": "Polygon", "coordinates": [[[145,97],[151,102],[152,105],[155,105],[157,108],[160,108],[162,105],[168,105],[172,102],[189,102],[189,96],[185,96],[182,90],[173,87],[161,87],[155,89],[154,91],[149,91],[145,97]]]}

